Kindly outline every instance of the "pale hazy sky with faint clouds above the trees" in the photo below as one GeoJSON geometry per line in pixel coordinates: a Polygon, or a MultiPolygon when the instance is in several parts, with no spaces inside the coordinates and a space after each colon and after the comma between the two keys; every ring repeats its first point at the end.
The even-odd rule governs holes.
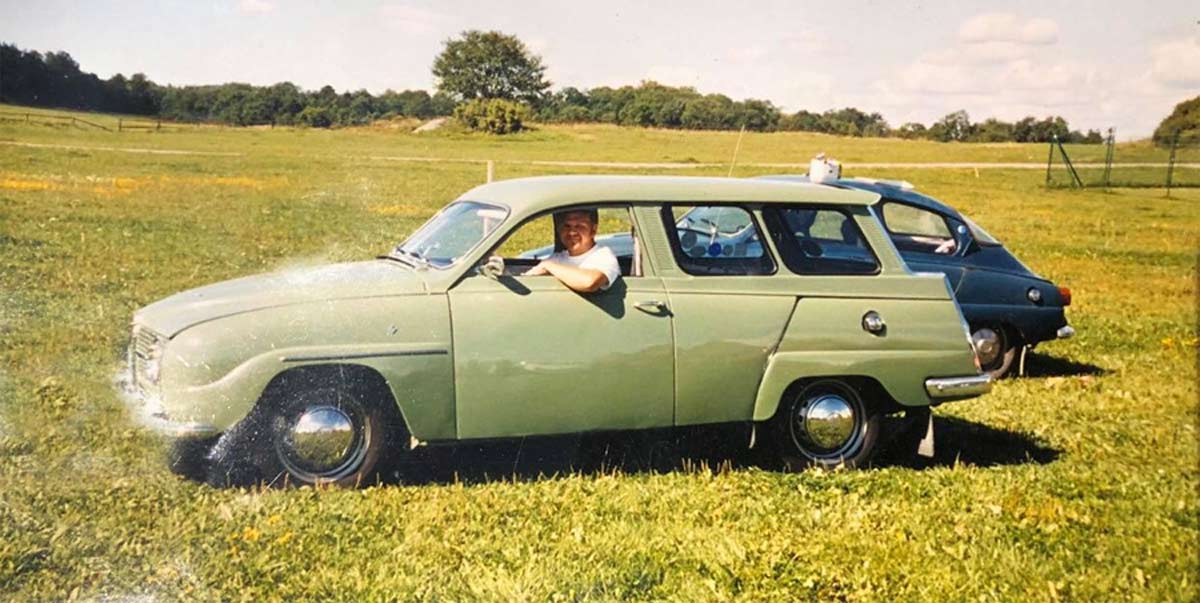
{"type": "Polygon", "coordinates": [[[540,55],[554,89],[655,80],[894,127],[1052,114],[1126,141],[1200,95],[1195,0],[0,0],[0,41],[160,84],[432,91],[445,40],[494,29],[540,55]]]}

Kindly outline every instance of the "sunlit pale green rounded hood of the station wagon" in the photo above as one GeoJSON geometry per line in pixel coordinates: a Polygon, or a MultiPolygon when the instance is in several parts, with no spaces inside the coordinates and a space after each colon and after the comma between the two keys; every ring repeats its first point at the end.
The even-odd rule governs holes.
{"type": "Polygon", "coordinates": [[[426,293],[425,279],[390,259],[295,268],[208,285],[150,304],[133,321],[167,338],[235,314],[330,299],[426,293]]]}

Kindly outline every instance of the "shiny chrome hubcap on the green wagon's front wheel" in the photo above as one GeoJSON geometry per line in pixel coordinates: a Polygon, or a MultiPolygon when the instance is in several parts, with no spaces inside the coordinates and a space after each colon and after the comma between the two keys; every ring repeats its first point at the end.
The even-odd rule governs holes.
{"type": "Polygon", "coordinates": [[[312,406],[288,426],[280,456],[290,473],[306,482],[337,480],[361,464],[368,436],[349,408],[312,406]]]}

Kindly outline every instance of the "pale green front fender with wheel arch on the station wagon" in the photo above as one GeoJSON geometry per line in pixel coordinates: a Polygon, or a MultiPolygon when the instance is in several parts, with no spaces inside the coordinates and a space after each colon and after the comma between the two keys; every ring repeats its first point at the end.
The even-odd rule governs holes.
{"type": "Polygon", "coordinates": [[[444,295],[320,302],[188,328],[164,348],[160,406],[172,422],[224,431],[250,413],[277,375],[350,364],[384,378],[414,436],[455,437],[444,295]]]}

